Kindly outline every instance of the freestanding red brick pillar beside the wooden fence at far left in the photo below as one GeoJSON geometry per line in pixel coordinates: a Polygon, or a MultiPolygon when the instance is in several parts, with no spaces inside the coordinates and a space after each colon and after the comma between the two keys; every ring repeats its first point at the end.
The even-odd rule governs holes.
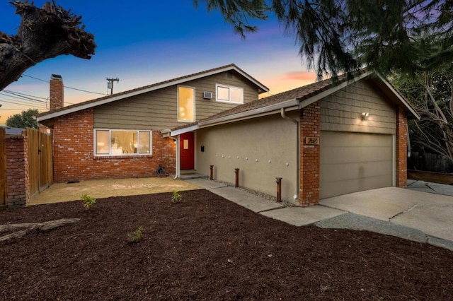
{"type": "Polygon", "coordinates": [[[26,206],[30,200],[28,137],[6,136],[6,206],[26,206]]]}

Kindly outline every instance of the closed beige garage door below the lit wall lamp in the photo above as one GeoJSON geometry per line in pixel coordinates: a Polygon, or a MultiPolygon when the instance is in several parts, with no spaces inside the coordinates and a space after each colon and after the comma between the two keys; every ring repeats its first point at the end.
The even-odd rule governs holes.
{"type": "Polygon", "coordinates": [[[321,131],[320,197],[393,184],[391,135],[321,131]]]}

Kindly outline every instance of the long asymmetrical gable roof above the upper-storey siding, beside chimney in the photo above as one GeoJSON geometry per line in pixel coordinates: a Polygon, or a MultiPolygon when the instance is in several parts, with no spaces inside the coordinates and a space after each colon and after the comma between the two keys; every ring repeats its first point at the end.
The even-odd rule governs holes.
{"type": "Polygon", "coordinates": [[[248,73],[246,73],[245,71],[240,69],[238,66],[236,66],[235,64],[229,64],[229,65],[226,65],[226,66],[221,66],[221,67],[217,67],[217,68],[214,68],[214,69],[209,69],[209,70],[205,70],[205,71],[189,74],[187,76],[180,76],[178,78],[173,78],[173,79],[170,79],[168,81],[161,81],[159,83],[154,83],[154,84],[151,84],[151,85],[145,85],[144,87],[141,87],[141,88],[135,88],[135,89],[132,89],[132,90],[127,90],[125,92],[104,96],[102,98],[96,98],[94,100],[87,100],[86,102],[81,102],[81,103],[77,103],[75,105],[62,107],[62,108],[57,109],[57,110],[44,112],[44,113],[38,114],[37,120],[38,120],[38,122],[42,122],[42,121],[45,121],[45,120],[48,120],[48,119],[52,119],[52,118],[55,118],[55,117],[63,116],[65,114],[78,112],[78,111],[85,110],[85,109],[88,109],[88,108],[91,108],[91,107],[97,107],[98,105],[105,105],[106,103],[109,103],[109,102],[115,102],[117,100],[122,100],[124,98],[130,98],[130,97],[135,96],[135,95],[148,93],[148,92],[151,92],[151,91],[154,91],[154,90],[159,90],[161,88],[166,88],[166,87],[169,87],[171,85],[178,85],[180,83],[186,83],[188,81],[193,81],[193,80],[198,79],[198,78],[204,78],[204,77],[207,77],[207,76],[212,76],[212,75],[215,75],[215,74],[218,74],[218,73],[222,73],[222,72],[225,72],[225,71],[236,71],[237,73],[241,74],[241,76],[246,78],[248,81],[251,81],[251,83],[253,83],[254,85],[256,85],[258,87],[258,93],[263,93],[263,92],[268,92],[269,91],[268,87],[266,87],[265,85],[263,85],[262,83],[257,81],[255,78],[253,78],[248,73]]]}

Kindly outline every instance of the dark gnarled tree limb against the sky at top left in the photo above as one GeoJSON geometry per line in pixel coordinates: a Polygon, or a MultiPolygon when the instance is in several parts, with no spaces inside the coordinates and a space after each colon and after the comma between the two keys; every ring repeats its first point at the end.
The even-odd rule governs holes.
{"type": "Polygon", "coordinates": [[[21,24],[16,35],[0,32],[0,90],[45,59],[62,54],[91,59],[96,44],[81,25],[80,16],[57,6],[54,0],[42,8],[28,0],[11,4],[21,16],[21,24]]]}

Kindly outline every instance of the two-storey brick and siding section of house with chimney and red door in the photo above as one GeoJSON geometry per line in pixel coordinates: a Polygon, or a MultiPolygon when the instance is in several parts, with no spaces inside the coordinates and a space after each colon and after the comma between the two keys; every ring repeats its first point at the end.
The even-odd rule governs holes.
{"type": "Polygon", "coordinates": [[[150,177],[164,168],[194,170],[194,136],[161,131],[258,99],[268,88],[234,64],[64,107],[63,80],[52,75],[50,111],[38,122],[53,132],[54,180],[150,177]]]}

